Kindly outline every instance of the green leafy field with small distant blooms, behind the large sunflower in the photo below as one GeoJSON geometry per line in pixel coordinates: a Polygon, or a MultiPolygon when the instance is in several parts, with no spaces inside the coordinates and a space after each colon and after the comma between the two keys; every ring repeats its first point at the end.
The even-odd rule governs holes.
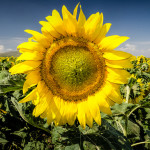
{"type": "Polygon", "coordinates": [[[101,126],[83,129],[48,125],[32,116],[32,102],[24,98],[24,74],[11,75],[15,57],[0,58],[0,149],[2,150],[149,150],[150,149],[150,59],[139,56],[127,69],[131,76],[120,86],[123,103],[111,107],[112,115],[101,113],[101,126]],[[138,104],[137,104],[138,103],[138,104]]]}

